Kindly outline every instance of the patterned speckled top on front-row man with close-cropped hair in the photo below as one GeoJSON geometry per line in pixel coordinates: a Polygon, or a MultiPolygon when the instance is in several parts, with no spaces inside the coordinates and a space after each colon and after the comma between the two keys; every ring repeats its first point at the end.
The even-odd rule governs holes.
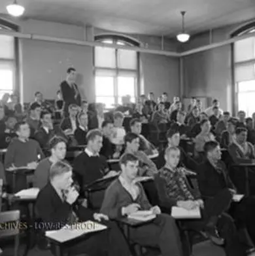
{"type": "Polygon", "coordinates": [[[179,200],[194,200],[192,192],[185,175],[185,169],[175,168],[170,170],[166,166],[160,169],[160,177],[166,181],[167,195],[179,200]]]}

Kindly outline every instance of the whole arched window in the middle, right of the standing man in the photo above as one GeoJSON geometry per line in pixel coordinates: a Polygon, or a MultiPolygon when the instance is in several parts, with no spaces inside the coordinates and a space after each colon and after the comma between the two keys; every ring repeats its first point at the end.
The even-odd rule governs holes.
{"type": "Polygon", "coordinates": [[[95,41],[105,46],[95,46],[95,101],[112,108],[122,103],[122,96],[131,96],[135,102],[139,88],[139,54],[134,50],[115,49],[108,44],[139,46],[129,37],[97,35],[95,41]]]}

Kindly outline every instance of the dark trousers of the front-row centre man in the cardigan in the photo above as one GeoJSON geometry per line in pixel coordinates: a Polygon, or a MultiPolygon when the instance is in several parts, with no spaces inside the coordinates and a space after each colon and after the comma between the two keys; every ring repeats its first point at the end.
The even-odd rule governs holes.
{"type": "Polygon", "coordinates": [[[130,229],[130,238],[141,246],[158,247],[162,256],[182,256],[182,244],[175,219],[161,213],[152,223],[130,229]]]}

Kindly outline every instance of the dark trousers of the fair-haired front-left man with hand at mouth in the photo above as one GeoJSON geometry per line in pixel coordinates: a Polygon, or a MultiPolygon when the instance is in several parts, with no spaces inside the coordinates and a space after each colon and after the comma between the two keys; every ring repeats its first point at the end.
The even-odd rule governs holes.
{"type": "Polygon", "coordinates": [[[130,256],[126,238],[116,223],[107,221],[103,223],[108,229],[90,234],[74,246],[69,252],[74,255],[86,253],[90,256],[130,256]]]}

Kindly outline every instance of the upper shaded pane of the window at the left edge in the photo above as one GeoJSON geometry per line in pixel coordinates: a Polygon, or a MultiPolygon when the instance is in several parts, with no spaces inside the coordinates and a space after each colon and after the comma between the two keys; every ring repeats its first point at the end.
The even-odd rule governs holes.
{"type": "Polygon", "coordinates": [[[0,35],[0,58],[14,59],[14,37],[0,35]]]}

